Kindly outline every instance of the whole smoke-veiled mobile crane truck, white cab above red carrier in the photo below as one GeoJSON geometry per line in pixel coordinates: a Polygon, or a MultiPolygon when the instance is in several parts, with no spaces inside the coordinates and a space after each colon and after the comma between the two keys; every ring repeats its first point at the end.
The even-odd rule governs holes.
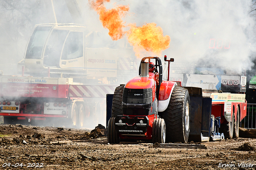
{"type": "Polygon", "coordinates": [[[137,61],[132,48],[117,49],[100,35],[79,24],[36,25],[18,63],[19,74],[0,75],[4,123],[40,121],[77,128],[104,124],[106,94],[127,73],[136,75],[137,61]]]}

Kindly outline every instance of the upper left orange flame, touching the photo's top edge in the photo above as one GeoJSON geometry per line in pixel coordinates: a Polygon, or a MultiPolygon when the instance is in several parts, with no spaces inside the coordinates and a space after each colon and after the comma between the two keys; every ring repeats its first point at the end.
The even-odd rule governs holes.
{"type": "Polygon", "coordinates": [[[92,8],[100,15],[100,21],[104,28],[109,30],[108,35],[112,40],[119,40],[124,36],[124,24],[121,19],[128,12],[128,6],[116,6],[110,10],[107,10],[104,6],[104,2],[110,2],[110,0],[97,0],[96,2],[90,1],[92,8]]]}

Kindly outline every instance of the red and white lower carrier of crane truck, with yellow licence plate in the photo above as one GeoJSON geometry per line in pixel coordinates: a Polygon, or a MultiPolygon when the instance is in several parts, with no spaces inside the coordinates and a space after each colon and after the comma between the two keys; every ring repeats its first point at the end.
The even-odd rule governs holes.
{"type": "Polygon", "coordinates": [[[100,110],[105,110],[104,97],[114,89],[111,85],[79,85],[72,78],[0,76],[0,116],[4,123],[47,120],[88,127],[98,123],[100,110]]]}

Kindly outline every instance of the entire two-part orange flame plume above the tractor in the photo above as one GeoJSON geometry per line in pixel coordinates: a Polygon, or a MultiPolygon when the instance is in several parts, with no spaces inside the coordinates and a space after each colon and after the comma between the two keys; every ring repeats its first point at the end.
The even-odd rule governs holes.
{"type": "Polygon", "coordinates": [[[155,23],[145,24],[137,27],[136,24],[129,24],[130,29],[124,32],[123,20],[121,19],[129,11],[128,6],[115,6],[107,10],[104,2],[110,0],[89,0],[89,4],[100,15],[100,21],[104,28],[109,30],[108,35],[112,40],[119,40],[127,34],[128,42],[133,46],[136,56],[140,56],[143,50],[160,55],[170,44],[170,36],[163,36],[161,27],[155,23]]]}

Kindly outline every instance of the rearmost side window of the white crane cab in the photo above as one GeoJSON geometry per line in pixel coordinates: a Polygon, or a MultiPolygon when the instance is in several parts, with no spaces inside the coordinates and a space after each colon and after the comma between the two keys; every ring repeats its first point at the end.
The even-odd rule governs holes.
{"type": "Polygon", "coordinates": [[[83,33],[70,32],[66,39],[61,59],[75,59],[83,56],[83,33]]]}

